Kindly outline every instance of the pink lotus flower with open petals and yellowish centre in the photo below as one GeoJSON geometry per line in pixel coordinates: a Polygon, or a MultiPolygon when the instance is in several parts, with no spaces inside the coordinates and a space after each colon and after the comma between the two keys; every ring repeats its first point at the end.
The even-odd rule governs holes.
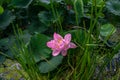
{"type": "Polygon", "coordinates": [[[66,34],[63,38],[61,35],[54,33],[54,39],[47,42],[47,46],[53,50],[52,55],[57,56],[60,53],[63,56],[67,55],[67,50],[69,48],[76,48],[77,46],[70,42],[71,41],[71,34],[66,34]]]}

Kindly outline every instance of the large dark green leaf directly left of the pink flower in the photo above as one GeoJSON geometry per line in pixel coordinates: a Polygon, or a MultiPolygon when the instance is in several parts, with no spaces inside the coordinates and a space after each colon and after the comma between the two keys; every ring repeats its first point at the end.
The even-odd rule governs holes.
{"type": "Polygon", "coordinates": [[[49,37],[36,33],[30,40],[30,48],[36,62],[50,57],[51,50],[46,46],[49,37]]]}

